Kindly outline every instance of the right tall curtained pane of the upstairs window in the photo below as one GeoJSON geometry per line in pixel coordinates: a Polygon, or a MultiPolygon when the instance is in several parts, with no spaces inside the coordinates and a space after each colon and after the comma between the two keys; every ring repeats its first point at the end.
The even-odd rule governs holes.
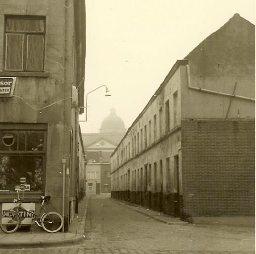
{"type": "Polygon", "coordinates": [[[27,36],[27,70],[43,71],[43,35],[27,36]]]}

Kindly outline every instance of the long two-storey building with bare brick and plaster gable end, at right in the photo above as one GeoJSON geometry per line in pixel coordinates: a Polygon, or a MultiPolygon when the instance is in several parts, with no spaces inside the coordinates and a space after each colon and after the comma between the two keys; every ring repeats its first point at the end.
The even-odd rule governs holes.
{"type": "Polygon", "coordinates": [[[113,198],[191,221],[254,216],[254,32],[235,14],[176,61],[111,156],[113,198]]]}

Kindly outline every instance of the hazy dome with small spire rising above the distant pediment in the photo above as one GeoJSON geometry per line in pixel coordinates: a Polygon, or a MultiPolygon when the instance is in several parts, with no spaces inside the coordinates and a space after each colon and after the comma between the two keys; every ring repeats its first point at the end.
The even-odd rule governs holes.
{"type": "Polygon", "coordinates": [[[116,114],[115,109],[101,123],[100,133],[125,133],[126,128],[123,120],[116,114]]]}

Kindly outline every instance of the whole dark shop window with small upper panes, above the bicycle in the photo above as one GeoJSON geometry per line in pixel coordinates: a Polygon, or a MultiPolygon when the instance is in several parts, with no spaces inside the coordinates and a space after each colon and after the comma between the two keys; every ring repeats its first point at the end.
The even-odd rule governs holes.
{"type": "Polygon", "coordinates": [[[0,192],[43,191],[46,164],[46,130],[0,129],[0,192]]]}

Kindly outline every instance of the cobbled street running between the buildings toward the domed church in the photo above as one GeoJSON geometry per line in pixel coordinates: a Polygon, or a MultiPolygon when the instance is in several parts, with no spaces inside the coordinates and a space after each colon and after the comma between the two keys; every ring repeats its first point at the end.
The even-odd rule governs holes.
{"type": "Polygon", "coordinates": [[[0,254],[254,253],[254,229],[210,225],[167,225],[142,215],[109,196],[89,198],[83,244],[55,248],[7,249],[0,254]]]}

